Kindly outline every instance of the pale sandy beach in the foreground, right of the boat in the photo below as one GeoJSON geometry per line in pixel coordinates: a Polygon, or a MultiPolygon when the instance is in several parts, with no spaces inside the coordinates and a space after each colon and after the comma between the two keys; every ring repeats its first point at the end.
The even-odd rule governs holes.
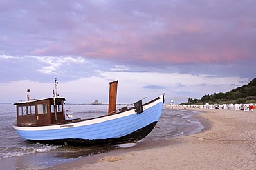
{"type": "Polygon", "coordinates": [[[199,134],[145,140],[48,169],[256,169],[256,111],[194,110],[205,126],[199,134]]]}

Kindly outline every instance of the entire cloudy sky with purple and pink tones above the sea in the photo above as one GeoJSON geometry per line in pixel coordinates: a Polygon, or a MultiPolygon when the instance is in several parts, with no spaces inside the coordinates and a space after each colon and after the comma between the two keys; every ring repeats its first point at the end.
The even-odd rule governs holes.
{"type": "Polygon", "coordinates": [[[256,77],[254,0],[0,0],[0,102],[165,103],[256,77]]]}

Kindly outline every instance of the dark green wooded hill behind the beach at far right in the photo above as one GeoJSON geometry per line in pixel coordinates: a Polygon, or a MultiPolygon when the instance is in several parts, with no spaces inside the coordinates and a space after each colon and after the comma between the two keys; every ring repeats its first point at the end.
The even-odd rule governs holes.
{"type": "Polygon", "coordinates": [[[201,104],[225,104],[225,103],[256,103],[256,78],[248,85],[237,87],[226,93],[205,94],[201,100],[188,98],[188,103],[181,105],[201,105],[201,104]]]}

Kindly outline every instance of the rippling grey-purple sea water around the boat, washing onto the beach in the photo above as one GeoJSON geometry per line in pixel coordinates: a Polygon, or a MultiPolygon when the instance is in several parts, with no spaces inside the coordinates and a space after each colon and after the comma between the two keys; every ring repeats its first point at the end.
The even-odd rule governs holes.
{"type": "MultiPolygon", "coordinates": [[[[73,118],[103,116],[107,105],[65,105],[73,118]]],[[[122,107],[122,106],[118,106],[122,107]]],[[[167,109],[163,107],[156,128],[143,140],[170,138],[188,135],[203,129],[194,111],[167,109]]],[[[109,152],[132,145],[108,145],[101,147],[69,147],[65,145],[42,145],[22,140],[13,129],[16,107],[11,103],[0,103],[0,164],[1,169],[43,169],[77,158],[109,152]]]]}

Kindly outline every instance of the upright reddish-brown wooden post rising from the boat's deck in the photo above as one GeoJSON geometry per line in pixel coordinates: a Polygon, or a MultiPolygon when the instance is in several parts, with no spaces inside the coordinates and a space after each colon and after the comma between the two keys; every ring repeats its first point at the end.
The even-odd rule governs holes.
{"type": "Polygon", "coordinates": [[[109,114],[113,114],[116,111],[116,94],[118,90],[118,81],[112,81],[109,83],[109,114]]]}

